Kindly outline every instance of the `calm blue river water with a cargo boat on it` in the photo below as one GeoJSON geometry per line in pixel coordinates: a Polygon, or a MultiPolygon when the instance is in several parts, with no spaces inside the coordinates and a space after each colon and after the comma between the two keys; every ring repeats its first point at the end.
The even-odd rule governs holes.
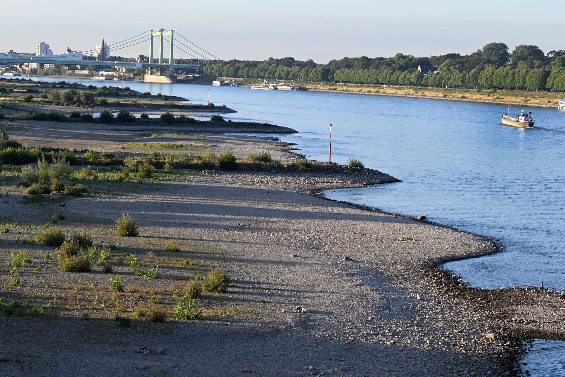
{"type": "MultiPolygon", "coordinates": [[[[232,86],[131,81],[124,85],[202,103],[210,89],[212,102],[239,111],[226,118],[297,129],[297,135],[282,140],[321,161],[328,157],[332,123],[332,161],[346,163],[356,157],[402,183],[328,190],[327,197],[386,212],[425,215],[433,222],[499,240],[505,246],[502,253],[445,265],[473,286],[537,287],[543,281],[545,287],[565,288],[565,111],[524,106],[533,112],[536,127],[518,129],[499,123],[504,105],[232,86]]],[[[534,349],[544,345],[536,343],[534,349]]],[[[554,347],[552,357],[562,365],[563,343],[554,347]]],[[[530,365],[532,358],[537,355],[526,357],[530,365]]],[[[544,372],[536,363],[529,370],[541,376],[551,374],[550,369],[544,372]]]]}

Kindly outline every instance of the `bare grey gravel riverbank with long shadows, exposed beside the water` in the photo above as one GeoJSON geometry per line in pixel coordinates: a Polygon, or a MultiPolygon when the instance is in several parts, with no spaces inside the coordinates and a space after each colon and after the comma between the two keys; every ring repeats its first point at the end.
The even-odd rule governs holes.
{"type": "MultiPolygon", "coordinates": [[[[98,150],[119,151],[120,144],[140,137],[131,131],[82,129],[79,135],[70,128],[51,132],[42,131],[39,123],[28,125],[14,133],[24,144],[76,143],[80,149],[88,143],[98,150]]],[[[286,145],[264,137],[203,136],[207,147],[218,153],[232,150],[241,158],[269,150],[275,159],[296,158],[286,145]]],[[[181,142],[183,136],[163,137],[181,142]]],[[[176,240],[183,248],[180,260],[199,260],[195,268],[200,270],[165,261],[154,280],[128,274],[126,266],[117,264],[114,274],[127,276],[128,288],[162,292],[166,305],[175,302],[170,287],[215,266],[227,268],[232,285],[225,294],[203,297],[208,311],[198,321],[150,323],[140,318],[130,328],[117,328],[112,320],[119,313],[115,305],[86,309],[94,294],[102,297],[108,291],[102,287],[110,276],[99,271],[63,274],[56,268],[34,276],[25,270],[28,286],[11,292],[3,287],[0,297],[19,294],[25,300],[28,291],[39,297],[48,282],[62,300],[76,304],[37,317],[0,315],[0,366],[6,375],[21,376],[64,375],[69,370],[77,376],[150,376],[158,369],[173,376],[506,376],[515,374],[524,339],[564,339],[560,295],[472,289],[437,269],[448,260],[497,252],[490,240],[312,195],[324,188],[393,179],[358,170],[220,171],[142,185],[98,181],[97,189],[111,196],[67,199],[63,227],[92,232],[97,244],[120,242],[118,254],[145,255],[149,249],[162,249],[166,240],[176,240]],[[121,211],[138,220],[142,237],[113,235],[112,224],[121,211]],[[93,283],[97,288],[89,288],[93,283]],[[296,306],[308,312],[294,313],[296,306]],[[90,319],[81,319],[85,313],[90,319]],[[140,346],[153,352],[136,353],[140,346]],[[157,354],[160,348],[164,353],[157,354]]],[[[6,179],[5,187],[10,182],[6,179]]],[[[45,224],[60,211],[58,198],[40,205],[20,200],[21,194],[13,191],[6,197],[3,222],[45,224]]],[[[2,261],[22,248],[15,236],[15,231],[0,235],[2,261]]],[[[42,266],[40,250],[45,246],[25,248],[42,266]]],[[[0,271],[2,281],[8,270],[0,271]]],[[[147,300],[131,298],[134,294],[116,300],[125,306],[128,300],[147,300]]]]}

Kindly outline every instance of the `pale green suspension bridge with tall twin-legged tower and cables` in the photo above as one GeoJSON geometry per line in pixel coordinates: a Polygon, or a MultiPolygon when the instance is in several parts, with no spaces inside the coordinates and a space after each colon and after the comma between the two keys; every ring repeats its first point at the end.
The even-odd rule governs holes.
{"type": "Polygon", "coordinates": [[[94,66],[94,67],[126,67],[126,68],[145,68],[146,81],[170,82],[173,77],[176,79],[177,71],[195,71],[200,66],[201,60],[219,60],[214,55],[198,47],[187,38],[175,31],[159,29],[158,31],[148,30],[137,34],[131,38],[114,44],[102,44],[101,49],[90,49],[78,53],[69,52],[58,55],[23,55],[23,54],[0,54],[0,63],[4,64],[55,64],[65,66],[94,66]],[[158,38],[158,46],[154,45],[154,38],[158,38]],[[164,56],[164,47],[167,42],[168,56],[164,56]],[[104,50],[108,49],[112,55],[116,56],[116,51],[128,49],[129,47],[147,43],[149,53],[144,59],[113,59],[109,60],[104,50]],[[158,56],[154,57],[155,48],[158,56]],[[187,54],[190,59],[176,59],[176,50],[187,54]],[[120,61],[116,61],[120,60],[120,61]],[[126,60],[126,61],[123,61],[126,60]],[[133,61],[131,61],[133,60],[133,61]],[[190,64],[186,64],[190,60],[190,64]],[[197,64],[192,64],[193,61],[197,64]],[[182,64],[180,64],[182,62],[182,64]],[[175,64],[176,63],[176,64],[175,64]],[[147,77],[149,76],[149,77],[147,77]]]}

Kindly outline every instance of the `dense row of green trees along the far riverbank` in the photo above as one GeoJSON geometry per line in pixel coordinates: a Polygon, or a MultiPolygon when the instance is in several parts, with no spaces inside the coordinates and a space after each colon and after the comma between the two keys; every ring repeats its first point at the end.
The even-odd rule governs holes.
{"type": "Polygon", "coordinates": [[[206,62],[201,71],[210,76],[284,81],[565,90],[565,50],[545,54],[537,46],[520,45],[510,53],[506,44],[493,42],[468,55],[417,58],[398,53],[390,58],[343,58],[327,64],[290,57],[234,59],[206,62]],[[425,75],[418,66],[437,67],[437,72],[425,75]]]}

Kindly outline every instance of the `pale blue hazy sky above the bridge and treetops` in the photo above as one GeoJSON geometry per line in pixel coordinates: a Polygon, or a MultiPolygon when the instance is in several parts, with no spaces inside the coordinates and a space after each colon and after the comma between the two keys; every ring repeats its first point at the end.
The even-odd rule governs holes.
{"type": "MultiPolygon", "coordinates": [[[[327,63],[399,52],[470,54],[489,42],[505,42],[510,51],[520,44],[537,45],[545,53],[565,49],[560,0],[28,0],[25,7],[6,6],[0,12],[0,52],[34,53],[41,41],[55,54],[67,46],[86,51],[102,37],[116,44],[160,28],[173,29],[225,60],[294,57],[327,63]]],[[[149,42],[140,41],[111,54],[147,55],[149,42]]],[[[179,47],[186,52],[176,49],[175,58],[190,58],[190,51],[179,47]]]]}

